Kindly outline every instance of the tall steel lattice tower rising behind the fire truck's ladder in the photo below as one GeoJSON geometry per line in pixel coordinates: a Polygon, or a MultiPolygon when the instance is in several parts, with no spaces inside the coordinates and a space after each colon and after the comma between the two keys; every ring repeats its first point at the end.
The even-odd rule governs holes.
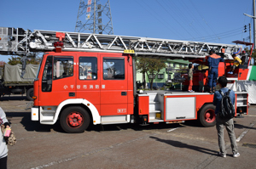
{"type": "Polygon", "coordinates": [[[80,0],[75,31],[113,35],[109,0],[80,0]]]}

